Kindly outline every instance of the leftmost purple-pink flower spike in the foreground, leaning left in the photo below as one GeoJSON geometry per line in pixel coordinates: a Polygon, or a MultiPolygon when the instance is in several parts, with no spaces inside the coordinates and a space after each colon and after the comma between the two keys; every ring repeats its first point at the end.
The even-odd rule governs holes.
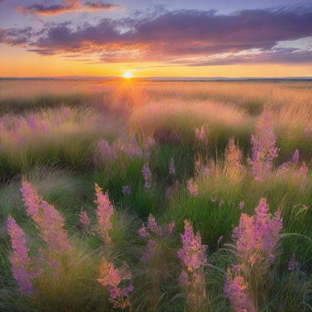
{"type": "Polygon", "coordinates": [[[13,254],[10,256],[13,277],[18,283],[20,292],[27,295],[33,292],[32,279],[34,277],[31,259],[28,256],[29,249],[26,246],[23,230],[11,215],[8,215],[7,225],[12,248],[14,249],[13,254]]]}

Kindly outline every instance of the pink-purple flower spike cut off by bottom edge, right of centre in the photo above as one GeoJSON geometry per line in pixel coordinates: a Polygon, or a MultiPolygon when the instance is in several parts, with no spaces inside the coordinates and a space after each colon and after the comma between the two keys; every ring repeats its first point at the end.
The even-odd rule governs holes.
{"type": "Polygon", "coordinates": [[[232,277],[231,269],[226,273],[224,283],[224,292],[230,299],[234,312],[255,312],[252,300],[247,294],[248,283],[245,282],[244,277],[232,277]]]}

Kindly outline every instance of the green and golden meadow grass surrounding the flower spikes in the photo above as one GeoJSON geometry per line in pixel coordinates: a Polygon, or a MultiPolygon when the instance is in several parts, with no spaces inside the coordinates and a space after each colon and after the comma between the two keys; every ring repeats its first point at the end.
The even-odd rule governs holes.
{"type": "MultiPolygon", "coordinates": [[[[209,265],[205,266],[204,273],[210,310],[232,312],[223,292],[225,271],[235,263],[235,256],[227,244],[232,243],[231,234],[241,213],[253,215],[263,197],[267,198],[271,213],[282,210],[283,237],[274,265],[263,273],[263,279],[268,278],[268,285],[258,297],[256,312],[311,311],[312,173],[310,169],[306,185],[300,187],[300,181],[292,177],[298,170],[296,165],[285,177],[277,172],[278,166],[290,160],[296,148],[299,149],[300,164],[305,160],[311,167],[312,138],[303,136],[305,122],[299,122],[294,128],[276,126],[279,156],[267,179],[258,182],[251,175],[247,158],[251,152],[254,122],[262,112],[267,95],[239,98],[234,95],[222,97],[222,94],[213,94],[212,90],[201,90],[201,93],[193,90],[184,94],[177,94],[170,88],[163,93],[156,91],[147,90],[151,98],[144,98],[146,102],[138,106],[132,94],[121,94],[126,101],[119,115],[116,115],[116,105],[120,98],[111,103],[113,114],[108,109],[86,107],[85,101],[92,95],[90,98],[78,95],[67,98],[65,103],[71,114],[66,118],[62,117],[61,96],[8,100],[2,106],[1,116],[8,117],[10,124],[8,133],[0,134],[1,312],[112,311],[109,293],[97,281],[102,256],[113,261],[116,267],[123,261],[130,265],[135,290],[131,293],[132,305],[128,311],[186,312],[186,296],[177,280],[182,270],[177,250],[181,248],[180,234],[184,231],[185,219],[192,222],[194,231],[200,232],[203,244],[208,245],[209,265]],[[220,102],[210,103],[216,100],[220,102]],[[38,121],[44,120],[49,130],[46,133],[31,131],[23,123],[18,134],[27,140],[18,144],[10,137],[13,128],[18,120],[23,120],[22,117],[27,120],[31,114],[35,114],[38,121]],[[58,118],[63,121],[55,125],[53,122],[58,118]],[[202,125],[208,137],[207,144],[195,138],[195,127],[202,125]],[[238,142],[247,170],[247,174],[237,180],[231,180],[225,170],[224,149],[230,136],[238,142]],[[117,159],[106,158],[95,163],[100,137],[108,139],[112,146],[120,142],[129,144],[131,138],[136,137],[143,156],[129,157],[127,153],[117,151],[117,159]],[[148,137],[156,140],[150,156],[146,156],[143,148],[148,137]],[[171,158],[174,159],[175,174],[169,173],[171,158]],[[195,160],[198,159],[201,159],[201,166],[196,171],[195,160]],[[215,171],[205,174],[203,165],[207,162],[211,165],[212,159],[215,160],[215,171]],[[142,166],[147,162],[152,173],[149,190],[144,188],[142,176],[142,166]],[[39,247],[46,250],[34,222],[26,215],[19,190],[22,175],[64,216],[64,229],[73,245],[70,254],[61,257],[61,270],[57,276],[51,274],[48,262],[42,264],[44,273],[35,279],[35,292],[30,296],[18,292],[11,273],[9,256],[12,249],[6,232],[6,217],[11,214],[26,235],[31,256],[37,256],[39,247]],[[186,181],[191,177],[198,186],[197,196],[190,195],[187,190],[186,181]],[[95,182],[104,192],[108,191],[114,205],[110,246],[94,228],[97,224],[95,182]],[[122,194],[122,187],[126,185],[131,188],[131,195],[122,194]],[[223,205],[219,205],[221,199],[223,205]],[[241,200],[245,201],[243,210],[239,210],[241,200]],[[81,208],[92,221],[89,231],[79,224],[81,208]],[[176,230],[168,237],[156,237],[156,252],[151,261],[144,262],[141,256],[146,240],[137,231],[143,222],[146,224],[150,213],[161,225],[175,222],[176,230]],[[218,245],[217,239],[221,235],[223,239],[218,245]],[[291,272],[288,261],[292,254],[296,255],[299,266],[291,272]]],[[[112,94],[106,99],[109,102],[111,98],[114,98],[112,94]]],[[[103,106],[109,107],[109,104],[103,106]]],[[[283,104],[276,100],[271,105],[279,110],[283,104]]]]}

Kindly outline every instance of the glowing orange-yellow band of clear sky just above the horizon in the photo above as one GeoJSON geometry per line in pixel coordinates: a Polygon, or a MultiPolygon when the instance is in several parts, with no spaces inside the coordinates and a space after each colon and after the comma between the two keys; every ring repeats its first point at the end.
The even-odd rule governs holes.
{"type": "Polygon", "coordinates": [[[1,46],[1,77],[38,76],[122,76],[140,77],[288,77],[312,76],[312,66],[287,64],[237,64],[222,66],[166,66],[165,63],[83,64],[59,56],[40,56],[22,48],[1,46]],[[145,67],[138,69],[140,67],[145,67]],[[146,68],[147,67],[147,68],[146,68]]]}

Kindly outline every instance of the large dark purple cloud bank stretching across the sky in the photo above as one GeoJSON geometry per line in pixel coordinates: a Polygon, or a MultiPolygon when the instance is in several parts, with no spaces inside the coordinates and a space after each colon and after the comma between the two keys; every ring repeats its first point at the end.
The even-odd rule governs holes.
{"type": "Polygon", "coordinates": [[[140,12],[132,18],[102,19],[78,27],[47,24],[40,32],[29,31],[25,36],[2,30],[0,40],[10,45],[19,45],[20,40],[29,51],[41,55],[101,54],[102,62],[208,66],[309,61],[311,53],[299,46],[276,49],[281,41],[312,36],[312,10],[308,6],[243,10],[229,15],[219,15],[215,10],[160,9],[154,18],[140,12]]]}

